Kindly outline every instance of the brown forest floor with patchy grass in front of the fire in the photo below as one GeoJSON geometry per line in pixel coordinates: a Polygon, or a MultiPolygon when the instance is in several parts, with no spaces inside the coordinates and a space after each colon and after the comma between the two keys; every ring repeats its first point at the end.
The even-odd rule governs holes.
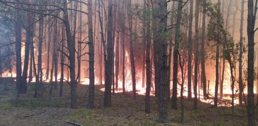
{"type": "Polygon", "coordinates": [[[145,96],[137,95],[137,100],[133,100],[131,92],[126,95],[112,94],[112,107],[104,108],[104,92],[100,91],[104,85],[96,85],[95,109],[88,110],[86,105],[89,85],[77,85],[77,109],[70,109],[70,87],[66,83],[63,97],[58,97],[58,85],[58,90],[53,90],[51,99],[49,83],[44,84],[45,92],[42,98],[33,98],[35,85],[32,83],[28,86],[27,94],[21,94],[19,100],[15,98],[14,85],[8,84],[7,91],[3,90],[4,84],[0,85],[0,126],[70,125],[65,123],[66,121],[82,125],[247,125],[245,106],[242,109],[240,105],[235,106],[236,117],[233,124],[231,107],[213,108],[211,104],[198,101],[198,108],[194,110],[193,102],[184,98],[185,121],[181,123],[181,101],[178,98],[178,109],[172,110],[171,102],[168,102],[168,123],[160,124],[157,99],[154,96],[150,98],[149,114],[145,113],[145,96]]]}

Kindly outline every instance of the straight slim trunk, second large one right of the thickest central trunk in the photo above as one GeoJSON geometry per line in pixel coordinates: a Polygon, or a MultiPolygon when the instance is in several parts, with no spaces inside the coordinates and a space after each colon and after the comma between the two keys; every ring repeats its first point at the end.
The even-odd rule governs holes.
{"type": "Polygon", "coordinates": [[[193,0],[190,1],[190,14],[189,14],[189,31],[188,31],[188,98],[187,101],[192,101],[192,53],[193,53],[193,47],[192,47],[192,26],[193,26],[193,0]]]}

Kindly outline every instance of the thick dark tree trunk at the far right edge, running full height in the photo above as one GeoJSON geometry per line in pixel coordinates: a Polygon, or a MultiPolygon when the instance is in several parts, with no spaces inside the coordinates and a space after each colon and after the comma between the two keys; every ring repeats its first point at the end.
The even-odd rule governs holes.
{"type": "Polygon", "coordinates": [[[253,54],[254,54],[254,25],[257,12],[257,1],[253,10],[253,0],[248,0],[247,36],[248,36],[248,63],[247,63],[247,120],[248,125],[255,125],[254,94],[253,94],[253,54]]]}

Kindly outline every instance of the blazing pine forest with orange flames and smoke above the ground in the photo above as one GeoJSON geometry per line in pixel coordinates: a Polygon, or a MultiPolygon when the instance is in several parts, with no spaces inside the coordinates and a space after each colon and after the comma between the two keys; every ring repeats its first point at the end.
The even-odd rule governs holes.
{"type": "Polygon", "coordinates": [[[104,92],[100,108],[112,107],[112,93],[144,96],[146,113],[156,100],[160,123],[169,120],[168,101],[181,108],[182,122],[185,101],[194,110],[201,102],[231,107],[232,122],[234,106],[253,116],[257,5],[248,0],[246,17],[240,1],[2,0],[0,83],[15,81],[18,100],[31,89],[33,98],[61,98],[65,85],[71,109],[79,86],[88,88],[88,109],[96,108],[95,86],[104,92]]]}

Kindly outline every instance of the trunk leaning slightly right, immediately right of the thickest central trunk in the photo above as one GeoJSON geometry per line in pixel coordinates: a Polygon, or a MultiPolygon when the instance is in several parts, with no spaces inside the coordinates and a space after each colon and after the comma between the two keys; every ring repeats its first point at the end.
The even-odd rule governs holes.
{"type": "Polygon", "coordinates": [[[182,18],[182,0],[179,0],[178,3],[178,13],[177,13],[177,25],[176,25],[176,34],[175,34],[175,47],[173,52],[173,92],[172,92],[172,103],[171,108],[177,109],[177,94],[178,94],[178,47],[179,47],[179,38],[180,38],[180,22],[182,18]]]}

